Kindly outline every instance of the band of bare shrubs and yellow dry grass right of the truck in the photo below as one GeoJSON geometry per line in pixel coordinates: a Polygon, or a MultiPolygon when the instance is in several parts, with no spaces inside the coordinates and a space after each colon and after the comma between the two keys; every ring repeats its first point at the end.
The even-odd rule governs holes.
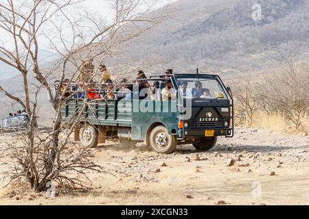
{"type": "Polygon", "coordinates": [[[233,81],[236,125],[309,129],[309,67],[289,60],[255,81],[233,81]]]}

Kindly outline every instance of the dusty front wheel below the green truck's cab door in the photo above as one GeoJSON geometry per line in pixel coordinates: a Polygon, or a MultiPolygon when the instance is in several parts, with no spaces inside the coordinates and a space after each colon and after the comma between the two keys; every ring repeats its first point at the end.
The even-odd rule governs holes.
{"type": "Polygon", "coordinates": [[[150,133],[150,146],[157,153],[174,153],[177,146],[177,136],[168,133],[163,126],[155,127],[150,133]]]}

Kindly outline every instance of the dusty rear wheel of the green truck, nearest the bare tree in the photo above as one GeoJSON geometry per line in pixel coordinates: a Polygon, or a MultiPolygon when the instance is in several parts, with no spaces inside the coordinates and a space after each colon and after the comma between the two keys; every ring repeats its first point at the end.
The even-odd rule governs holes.
{"type": "Polygon", "coordinates": [[[86,124],[80,127],[80,143],[87,148],[98,146],[99,131],[93,125],[86,124]]]}

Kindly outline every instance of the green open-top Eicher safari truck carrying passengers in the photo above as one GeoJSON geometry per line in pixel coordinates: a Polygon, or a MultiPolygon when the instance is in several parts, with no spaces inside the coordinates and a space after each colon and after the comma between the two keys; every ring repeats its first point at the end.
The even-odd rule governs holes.
{"type": "Polygon", "coordinates": [[[115,98],[111,99],[102,97],[104,89],[95,91],[102,97],[97,99],[72,90],[76,95],[63,101],[62,121],[82,111],[74,136],[85,147],[119,140],[145,142],[157,153],[173,153],[180,144],[208,151],[218,137],[233,137],[233,96],[218,75],[154,75],[147,81],[114,86],[115,98]],[[148,83],[148,88],[139,89],[141,82],[148,83]],[[172,88],[165,88],[170,82],[172,88]],[[129,98],[122,98],[122,87],[129,98]],[[172,95],[165,99],[164,92],[172,95]]]}

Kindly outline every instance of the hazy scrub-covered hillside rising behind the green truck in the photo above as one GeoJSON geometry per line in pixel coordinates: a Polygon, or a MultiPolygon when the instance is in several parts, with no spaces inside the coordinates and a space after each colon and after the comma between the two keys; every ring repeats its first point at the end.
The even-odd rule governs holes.
{"type": "Polygon", "coordinates": [[[172,18],[131,44],[122,62],[160,63],[151,70],[247,72],[277,66],[290,56],[308,59],[309,1],[260,0],[262,21],[253,21],[256,2],[177,1],[172,18]]]}

